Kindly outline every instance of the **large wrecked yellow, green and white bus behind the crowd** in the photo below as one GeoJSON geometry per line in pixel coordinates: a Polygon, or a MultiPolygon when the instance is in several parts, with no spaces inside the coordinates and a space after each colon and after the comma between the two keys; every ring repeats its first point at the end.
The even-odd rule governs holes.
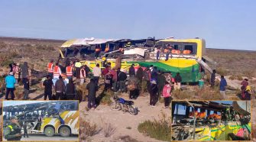
{"type": "Polygon", "coordinates": [[[206,53],[205,40],[160,39],[141,40],[102,40],[94,38],[67,40],[60,49],[60,59],[69,62],[78,59],[84,65],[93,68],[97,63],[111,63],[112,68],[128,70],[135,66],[157,66],[164,73],[180,73],[182,82],[198,82],[202,78],[203,68],[212,69],[203,62],[206,53]],[[203,68],[202,68],[203,66],[203,68]]]}

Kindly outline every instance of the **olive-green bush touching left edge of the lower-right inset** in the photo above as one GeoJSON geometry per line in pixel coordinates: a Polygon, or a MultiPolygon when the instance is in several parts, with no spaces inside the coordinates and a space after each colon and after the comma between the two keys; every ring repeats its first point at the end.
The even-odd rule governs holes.
{"type": "Polygon", "coordinates": [[[162,118],[159,121],[144,121],[138,125],[138,131],[143,134],[155,138],[157,140],[170,141],[171,139],[171,127],[170,119],[166,115],[162,114],[162,118]]]}

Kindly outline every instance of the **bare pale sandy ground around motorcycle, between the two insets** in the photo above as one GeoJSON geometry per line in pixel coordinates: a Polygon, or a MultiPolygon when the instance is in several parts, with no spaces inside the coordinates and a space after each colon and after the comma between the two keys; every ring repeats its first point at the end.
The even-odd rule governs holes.
{"type": "MultiPolygon", "coordinates": [[[[123,97],[127,99],[128,97],[123,97]]],[[[98,141],[129,141],[122,140],[120,137],[129,136],[133,140],[157,142],[160,140],[152,139],[144,134],[138,132],[138,124],[146,120],[159,119],[161,113],[167,114],[170,117],[171,111],[169,108],[163,108],[164,104],[158,103],[155,108],[148,106],[149,96],[140,96],[137,100],[134,100],[134,105],[138,107],[138,115],[130,115],[128,112],[113,111],[108,105],[99,105],[96,110],[86,111],[87,102],[81,102],[79,105],[80,117],[86,119],[91,123],[102,125],[102,123],[111,123],[113,127],[116,127],[115,134],[111,137],[104,137],[103,131],[96,134],[89,139],[93,142],[98,141]],[[128,129],[127,127],[131,127],[128,129]]]]}

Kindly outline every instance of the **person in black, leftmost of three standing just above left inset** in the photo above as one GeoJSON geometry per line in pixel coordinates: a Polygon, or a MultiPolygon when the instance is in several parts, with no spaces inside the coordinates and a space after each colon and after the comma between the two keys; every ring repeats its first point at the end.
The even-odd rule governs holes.
{"type": "Polygon", "coordinates": [[[47,79],[44,80],[43,86],[44,86],[44,100],[47,99],[47,96],[48,96],[49,100],[51,100],[52,99],[51,97],[53,95],[53,92],[52,92],[53,81],[52,81],[50,75],[47,75],[47,79]]]}

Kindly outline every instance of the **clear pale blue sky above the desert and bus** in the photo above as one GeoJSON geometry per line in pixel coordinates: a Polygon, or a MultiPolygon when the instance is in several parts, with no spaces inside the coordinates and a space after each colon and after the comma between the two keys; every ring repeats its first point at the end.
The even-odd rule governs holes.
{"type": "Polygon", "coordinates": [[[0,36],[203,37],[206,47],[255,50],[254,0],[1,0],[0,36]]]}

